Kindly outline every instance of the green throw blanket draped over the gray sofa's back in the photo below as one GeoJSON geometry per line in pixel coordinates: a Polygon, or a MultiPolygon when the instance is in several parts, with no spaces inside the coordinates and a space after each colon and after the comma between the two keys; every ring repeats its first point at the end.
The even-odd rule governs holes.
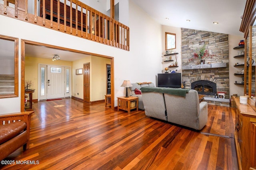
{"type": "Polygon", "coordinates": [[[176,96],[186,96],[186,93],[190,89],[182,88],[165,88],[165,87],[142,87],[140,88],[141,92],[158,92],[158,93],[167,93],[176,96]]]}

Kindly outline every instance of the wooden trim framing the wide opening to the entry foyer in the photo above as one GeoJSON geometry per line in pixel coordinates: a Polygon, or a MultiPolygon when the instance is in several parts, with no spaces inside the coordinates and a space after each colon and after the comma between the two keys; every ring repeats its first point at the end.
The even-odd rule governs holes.
{"type": "MultiPolygon", "coordinates": [[[[70,51],[70,52],[74,52],[74,53],[80,53],[80,54],[92,55],[95,57],[103,57],[103,58],[110,59],[110,71],[111,71],[110,75],[111,75],[111,77],[114,77],[114,57],[80,51],[80,50],[75,50],[75,49],[69,49],[69,48],[65,48],[65,47],[59,47],[59,46],[55,46],[55,45],[38,43],[35,41],[26,40],[26,39],[21,39],[20,111],[24,111],[24,109],[25,109],[25,103],[24,103],[24,100],[25,100],[25,44],[37,45],[37,46],[48,47],[48,48],[52,48],[52,49],[70,51]]],[[[114,78],[111,79],[111,109],[114,110],[114,78]]]]}

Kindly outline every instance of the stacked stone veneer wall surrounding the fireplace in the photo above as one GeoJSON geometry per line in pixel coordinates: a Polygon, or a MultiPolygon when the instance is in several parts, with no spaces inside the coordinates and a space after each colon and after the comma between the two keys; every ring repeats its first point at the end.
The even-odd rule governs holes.
{"type": "MultiPolygon", "coordinates": [[[[195,80],[210,80],[217,85],[217,92],[226,92],[229,98],[229,61],[228,61],[228,34],[200,31],[182,28],[182,66],[193,66],[200,60],[188,61],[194,56],[196,49],[206,45],[210,54],[216,54],[218,60],[206,59],[205,64],[226,63],[224,68],[182,69],[182,81],[186,88],[191,88],[195,80]]],[[[213,97],[213,96],[211,96],[213,97]]]]}

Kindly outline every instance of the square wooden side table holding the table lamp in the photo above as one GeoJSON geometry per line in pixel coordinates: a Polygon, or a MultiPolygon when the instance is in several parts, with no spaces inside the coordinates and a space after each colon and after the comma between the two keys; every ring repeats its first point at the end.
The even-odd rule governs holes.
{"type": "Polygon", "coordinates": [[[131,113],[131,109],[137,109],[138,111],[138,104],[139,104],[139,98],[138,97],[133,97],[129,96],[128,98],[122,96],[117,98],[117,111],[119,109],[128,111],[128,114],[131,113]],[[131,102],[136,102],[134,106],[131,105],[131,102]]]}

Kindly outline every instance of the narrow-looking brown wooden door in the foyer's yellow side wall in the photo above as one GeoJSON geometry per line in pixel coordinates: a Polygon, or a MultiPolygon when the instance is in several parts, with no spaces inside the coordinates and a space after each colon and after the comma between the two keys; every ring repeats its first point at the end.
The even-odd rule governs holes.
{"type": "Polygon", "coordinates": [[[90,102],[90,63],[84,64],[84,102],[90,102]]]}

